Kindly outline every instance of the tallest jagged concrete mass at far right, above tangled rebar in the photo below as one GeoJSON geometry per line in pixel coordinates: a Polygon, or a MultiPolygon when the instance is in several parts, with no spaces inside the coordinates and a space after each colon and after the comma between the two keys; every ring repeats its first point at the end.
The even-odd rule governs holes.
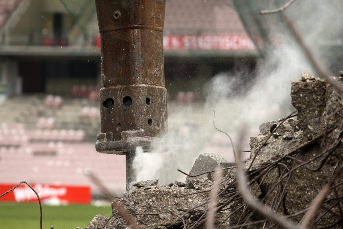
{"type": "MultiPolygon", "coordinates": [[[[343,78],[333,78],[333,80],[342,84],[343,78]]],[[[329,157],[326,163],[322,163],[323,157],[315,158],[334,146],[340,138],[340,133],[343,131],[343,112],[338,112],[339,114],[335,114],[335,112],[340,111],[343,107],[342,95],[326,81],[305,74],[300,82],[292,83],[292,104],[298,110],[297,121],[289,119],[286,123],[292,127],[293,131],[287,131],[282,135],[282,138],[270,138],[268,144],[261,148],[252,164],[252,170],[256,170],[287,155],[296,155],[300,161],[311,160],[311,168],[320,168],[318,172],[309,172],[304,167],[300,167],[290,176],[289,182],[287,181],[287,196],[282,210],[288,215],[307,208],[313,202],[322,187],[328,182],[328,179],[323,178],[320,174],[332,174],[335,165],[341,163],[343,155],[343,148],[339,147],[335,150],[334,156],[329,157]],[[322,136],[326,137],[323,139],[322,136]],[[321,144],[322,141],[323,144],[321,144]]],[[[261,142],[266,137],[266,134],[260,133],[258,137],[251,138],[251,157],[245,161],[246,168],[249,167],[251,158],[255,156],[256,151],[261,147],[261,142]]],[[[284,160],[282,163],[285,163],[288,168],[292,168],[294,162],[284,160]]],[[[275,201],[276,191],[272,191],[270,188],[278,179],[279,173],[275,169],[260,184],[260,198],[263,193],[271,192],[269,196],[263,197],[266,205],[272,205],[272,202],[275,201]]],[[[340,179],[337,182],[342,181],[342,176],[340,179]]],[[[334,192],[328,194],[328,198],[330,198],[329,196],[333,198],[334,192]]],[[[321,213],[318,214],[322,218],[318,223],[316,222],[314,228],[328,228],[340,218],[337,210],[331,215],[325,213],[330,206],[331,203],[323,205],[320,210],[321,213]]],[[[300,221],[301,218],[302,216],[298,216],[293,219],[300,221]]]]}

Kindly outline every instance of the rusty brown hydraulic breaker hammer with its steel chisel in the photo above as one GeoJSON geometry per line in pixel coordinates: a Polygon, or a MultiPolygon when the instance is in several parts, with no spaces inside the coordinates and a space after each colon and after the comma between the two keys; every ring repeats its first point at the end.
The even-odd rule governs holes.
{"type": "Polygon", "coordinates": [[[100,32],[101,134],[96,150],[126,155],[126,187],[137,147],[167,143],[165,0],[95,0],[100,32]]]}

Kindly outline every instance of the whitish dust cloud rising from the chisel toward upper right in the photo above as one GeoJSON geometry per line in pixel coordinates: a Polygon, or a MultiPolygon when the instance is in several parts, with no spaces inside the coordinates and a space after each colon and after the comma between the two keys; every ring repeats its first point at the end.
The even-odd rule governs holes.
{"type": "MultiPolygon", "coordinates": [[[[328,67],[334,61],[332,56],[328,57],[323,41],[343,31],[343,14],[335,4],[335,1],[299,0],[287,9],[306,43],[328,67]]],[[[293,38],[277,31],[277,25],[273,27],[279,44],[257,60],[254,72],[243,69],[219,73],[206,82],[205,88],[194,89],[199,93],[205,91],[204,101],[168,105],[169,150],[159,153],[156,146],[154,152],[144,153],[138,149],[134,160],[137,181],[159,179],[159,184],[184,181],[185,176],[177,169],[189,172],[194,160],[205,152],[233,161],[229,140],[213,127],[213,110],[216,126],[227,131],[234,142],[241,124],[247,124],[249,136],[257,136],[261,123],[280,119],[295,110],[291,104],[291,81],[298,81],[301,72],[314,76],[316,73],[293,38]]],[[[250,149],[249,136],[246,150],[250,149]]]]}

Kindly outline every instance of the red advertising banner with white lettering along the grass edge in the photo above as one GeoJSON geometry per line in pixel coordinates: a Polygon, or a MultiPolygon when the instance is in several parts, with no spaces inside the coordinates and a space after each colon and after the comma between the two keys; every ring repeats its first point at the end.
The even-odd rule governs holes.
{"type": "MultiPolygon", "coordinates": [[[[7,192],[16,184],[0,184],[0,194],[7,192]]],[[[42,203],[46,204],[90,204],[91,188],[88,186],[67,186],[50,184],[31,184],[42,203]]],[[[21,184],[0,201],[38,202],[36,194],[26,184],[21,184]]]]}

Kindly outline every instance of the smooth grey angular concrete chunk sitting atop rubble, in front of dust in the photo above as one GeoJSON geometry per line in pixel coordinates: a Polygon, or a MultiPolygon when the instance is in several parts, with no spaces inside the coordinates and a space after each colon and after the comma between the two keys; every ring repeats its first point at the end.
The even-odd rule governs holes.
{"type": "MultiPolygon", "coordinates": [[[[204,172],[213,171],[215,168],[221,165],[221,163],[227,162],[225,158],[222,156],[219,156],[214,153],[203,153],[199,156],[199,158],[195,161],[191,171],[189,172],[190,175],[198,175],[204,172]]],[[[189,183],[189,181],[194,180],[199,177],[207,178],[211,181],[213,181],[213,177],[210,174],[203,174],[197,177],[190,177],[187,176],[186,178],[186,184],[189,183]]]]}

